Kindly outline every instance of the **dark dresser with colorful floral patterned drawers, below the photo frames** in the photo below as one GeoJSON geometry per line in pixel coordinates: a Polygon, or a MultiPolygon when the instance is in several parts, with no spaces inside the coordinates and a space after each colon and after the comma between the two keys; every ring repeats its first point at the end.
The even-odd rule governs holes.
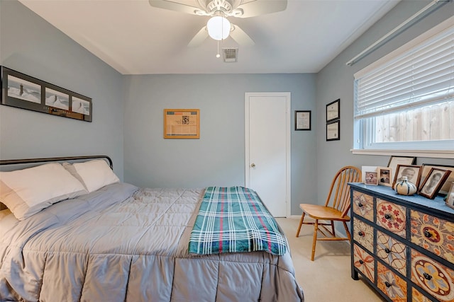
{"type": "Polygon", "coordinates": [[[454,209],[351,183],[351,272],[388,301],[454,301],[454,209]]]}

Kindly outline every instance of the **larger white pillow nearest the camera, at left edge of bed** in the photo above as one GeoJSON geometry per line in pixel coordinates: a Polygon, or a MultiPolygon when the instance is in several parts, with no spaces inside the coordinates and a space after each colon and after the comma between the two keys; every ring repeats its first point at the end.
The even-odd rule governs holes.
{"type": "Polygon", "coordinates": [[[23,220],[55,202],[86,194],[79,180],[60,163],[0,172],[0,201],[23,220]]]}

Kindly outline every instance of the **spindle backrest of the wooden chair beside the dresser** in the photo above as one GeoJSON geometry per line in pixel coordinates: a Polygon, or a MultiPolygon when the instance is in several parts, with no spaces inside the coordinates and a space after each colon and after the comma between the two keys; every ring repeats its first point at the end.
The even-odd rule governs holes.
{"type": "Polygon", "coordinates": [[[360,181],[361,170],[353,167],[353,165],[347,165],[341,168],[341,170],[338,170],[338,173],[333,178],[333,182],[331,182],[325,207],[333,207],[341,211],[342,216],[347,215],[350,210],[350,185],[348,185],[348,182],[360,181]]]}

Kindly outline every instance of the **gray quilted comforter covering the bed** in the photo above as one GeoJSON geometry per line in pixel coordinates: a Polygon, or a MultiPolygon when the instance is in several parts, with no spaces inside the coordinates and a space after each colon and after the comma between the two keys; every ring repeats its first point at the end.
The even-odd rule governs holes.
{"type": "Polygon", "coordinates": [[[1,301],[303,301],[292,259],[189,255],[200,190],[118,183],[0,220],[1,301]]]}

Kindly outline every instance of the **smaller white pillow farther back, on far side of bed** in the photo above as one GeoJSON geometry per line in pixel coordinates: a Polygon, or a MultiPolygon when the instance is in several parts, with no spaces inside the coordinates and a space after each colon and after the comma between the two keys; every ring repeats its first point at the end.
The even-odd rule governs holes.
{"type": "Polygon", "coordinates": [[[95,159],[84,163],[63,163],[63,166],[82,182],[88,192],[96,191],[111,183],[120,182],[104,159],[95,159]]]}

